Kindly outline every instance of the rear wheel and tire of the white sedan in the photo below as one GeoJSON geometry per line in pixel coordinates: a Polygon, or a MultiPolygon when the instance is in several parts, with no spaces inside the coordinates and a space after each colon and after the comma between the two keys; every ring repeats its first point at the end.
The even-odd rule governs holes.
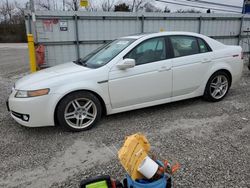
{"type": "Polygon", "coordinates": [[[215,72],[208,80],[203,98],[207,101],[218,102],[228,93],[231,81],[224,71],[215,72]]]}

